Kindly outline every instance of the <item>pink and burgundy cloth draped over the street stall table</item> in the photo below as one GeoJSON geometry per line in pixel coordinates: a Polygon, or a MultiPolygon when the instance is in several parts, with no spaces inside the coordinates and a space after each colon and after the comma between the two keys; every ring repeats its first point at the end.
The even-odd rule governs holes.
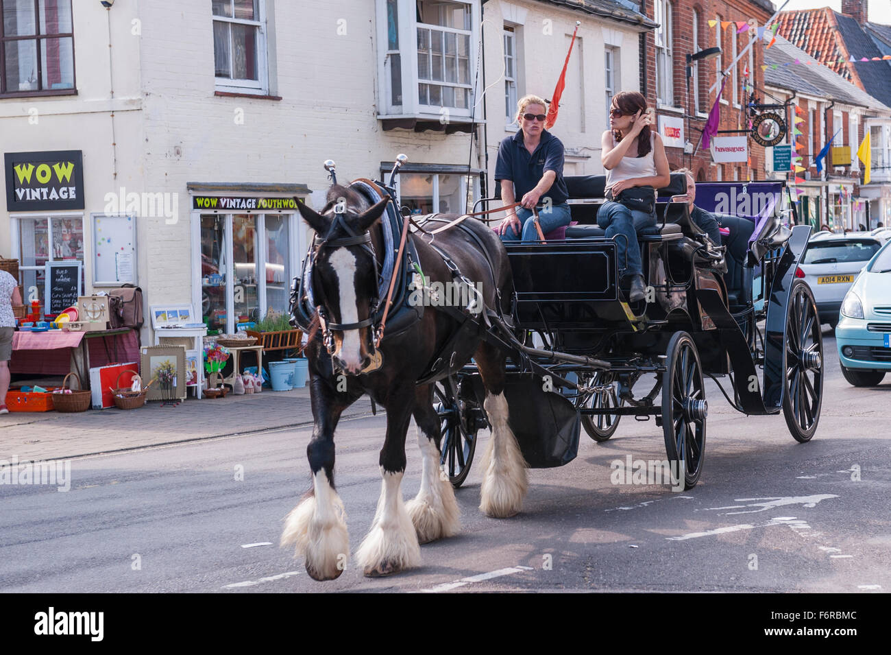
{"type": "MultiPolygon", "coordinates": [[[[90,366],[115,362],[138,362],[139,342],[135,330],[121,334],[90,332],[86,339],[90,366]]],[[[81,347],[84,332],[15,332],[12,335],[12,373],[64,375],[71,370],[71,348],[81,347]]]]}

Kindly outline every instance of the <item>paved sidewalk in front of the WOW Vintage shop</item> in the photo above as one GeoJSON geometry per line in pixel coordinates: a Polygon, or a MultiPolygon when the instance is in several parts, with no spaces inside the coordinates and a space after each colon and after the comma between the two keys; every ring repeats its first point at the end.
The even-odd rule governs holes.
{"type": "MultiPolygon", "coordinates": [[[[380,407],[379,407],[380,410],[380,407]]],[[[360,398],[343,418],[371,414],[360,398]]],[[[19,462],[109,453],[195,439],[311,425],[309,389],[271,391],[225,398],[189,398],[176,406],[146,403],[82,413],[12,412],[0,416],[0,461],[19,462]]]]}

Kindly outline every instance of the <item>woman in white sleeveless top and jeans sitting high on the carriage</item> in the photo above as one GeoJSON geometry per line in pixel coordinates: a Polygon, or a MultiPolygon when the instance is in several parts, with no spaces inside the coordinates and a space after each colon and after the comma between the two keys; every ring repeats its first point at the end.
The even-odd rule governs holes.
{"type": "Polygon", "coordinates": [[[629,290],[630,302],[646,296],[637,231],[656,225],[656,189],[671,181],[662,137],[650,130],[653,120],[642,94],[622,91],[613,96],[609,129],[601,137],[601,162],[607,171],[609,201],[597,212],[597,225],[608,237],[625,236],[625,239],[616,239],[616,250],[621,285],[629,290]],[[634,190],[634,187],[644,188],[634,190]],[[640,200],[649,200],[643,196],[651,192],[652,209],[649,212],[634,209],[632,199],[620,197],[627,189],[633,189],[634,198],[640,200]],[[625,262],[627,267],[622,270],[625,262]]]}

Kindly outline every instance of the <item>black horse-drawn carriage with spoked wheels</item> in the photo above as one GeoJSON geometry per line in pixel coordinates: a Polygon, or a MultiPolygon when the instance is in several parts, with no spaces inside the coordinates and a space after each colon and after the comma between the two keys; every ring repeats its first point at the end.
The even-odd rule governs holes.
{"type": "MultiPolygon", "coordinates": [[[[782,412],[793,438],[812,438],[822,404],[822,332],[812,292],[795,276],[811,228],[782,225],[775,184],[697,185],[706,205],[720,192],[767,199],[751,217],[718,214],[726,234],[715,247],[691,220],[686,176],[673,174],[658,191],[658,225],[639,234],[647,298],[629,304],[617,280],[616,242],[596,225],[604,176],[566,181],[575,225],[560,240],[505,246],[512,324],[489,327],[489,338],[511,352],[505,393],[527,463],[568,463],[580,428],[605,441],[623,416],[652,416],[672,471],[693,487],[705,454],[706,378],[741,413],[782,412]],[[645,393],[635,395],[641,385],[645,393]]],[[[487,426],[482,398],[473,364],[437,383],[442,463],[455,487],[487,426]]]]}

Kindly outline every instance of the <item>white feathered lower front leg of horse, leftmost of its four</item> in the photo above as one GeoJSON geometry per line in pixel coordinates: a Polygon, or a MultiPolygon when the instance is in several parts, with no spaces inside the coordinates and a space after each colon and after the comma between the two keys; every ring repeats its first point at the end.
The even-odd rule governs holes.
{"type": "Polygon", "coordinates": [[[314,495],[285,519],[281,545],[293,545],[295,557],[306,557],[312,577],[330,580],[343,572],[349,559],[347,512],[324,470],[313,476],[313,489],[314,495]]]}

